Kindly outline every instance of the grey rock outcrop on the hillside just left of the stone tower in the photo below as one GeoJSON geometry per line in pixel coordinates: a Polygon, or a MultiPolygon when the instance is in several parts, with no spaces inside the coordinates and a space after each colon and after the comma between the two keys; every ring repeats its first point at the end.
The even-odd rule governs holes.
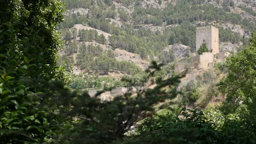
{"type": "Polygon", "coordinates": [[[190,47],[182,44],[168,45],[165,47],[164,51],[173,51],[176,61],[181,61],[182,59],[188,58],[191,55],[190,47]]]}

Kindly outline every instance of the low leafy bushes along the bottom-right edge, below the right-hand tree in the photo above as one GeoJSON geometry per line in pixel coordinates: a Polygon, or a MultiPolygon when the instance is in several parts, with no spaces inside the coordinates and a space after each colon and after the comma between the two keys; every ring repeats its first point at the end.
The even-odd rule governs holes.
{"type": "Polygon", "coordinates": [[[182,119],[166,116],[147,118],[136,135],[126,143],[254,143],[253,129],[240,114],[223,115],[218,110],[207,113],[195,109],[181,111],[182,119]]]}

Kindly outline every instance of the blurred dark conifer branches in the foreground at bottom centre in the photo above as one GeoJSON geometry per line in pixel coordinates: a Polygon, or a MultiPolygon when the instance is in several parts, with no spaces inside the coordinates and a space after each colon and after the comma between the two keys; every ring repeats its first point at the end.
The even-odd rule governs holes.
{"type": "MultiPolygon", "coordinates": [[[[161,65],[153,62],[147,70],[148,75],[141,79],[144,86],[146,81],[153,77],[161,69],[161,65]]],[[[162,88],[176,86],[180,76],[171,77],[161,81],[153,89],[140,89],[135,93],[129,90],[123,97],[115,97],[110,101],[102,101],[100,98],[89,97],[88,94],[73,95],[73,109],[67,112],[70,118],[77,117],[78,123],[74,124],[74,132],[67,137],[62,135],[57,143],[70,141],[71,143],[119,143],[125,140],[125,133],[130,127],[147,117],[147,113],[154,113],[152,106],[166,99],[176,97],[175,91],[172,95],[166,95],[162,88]]],[[[132,83],[129,77],[124,78],[126,82],[132,83]]],[[[137,82],[135,82],[137,83],[137,82]]],[[[106,89],[110,90],[110,89],[106,89]]],[[[63,96],[63,95],[62,95],[63,96]]],[[[68,93],[66,97],[70,97],[68,93]]],[[[66,98],[70,100],[70,98],[66,98]]]]}

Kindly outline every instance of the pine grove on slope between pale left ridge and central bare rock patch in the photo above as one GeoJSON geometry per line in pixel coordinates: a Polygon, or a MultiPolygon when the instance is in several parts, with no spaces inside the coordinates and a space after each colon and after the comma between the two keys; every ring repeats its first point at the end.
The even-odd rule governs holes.
{"type": "Polygon", "coordinates": [[[79,49],[77,65],[79,69],[88,73],[107,74],[113,70],[123,71],[132,75],[142,73],[142,70],[133,63],[118,62],[114,58],[113,51],[109,50],[107,53],[103,53],[100,46],[82,44],[79,49]]]}

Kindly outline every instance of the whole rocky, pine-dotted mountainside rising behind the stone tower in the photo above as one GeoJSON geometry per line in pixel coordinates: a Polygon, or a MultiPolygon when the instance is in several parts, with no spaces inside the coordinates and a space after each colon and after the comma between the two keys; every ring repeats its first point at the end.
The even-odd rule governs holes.
{"type": "Polygon", "coordinates": [[[252,0],[63,2],[67,11],[59,28],[66,43],[59,64],[65,61],[70,68],[89,74],[111,70],[135,74],[152,60],[165,64],[184,60],[195,52],[195,29],[200,26],[218,27],[220,50],[226,55],[236,53],[256,26],[252,0]],[[175,44],[179,44],[176,49],[187,48],[166,51],[175,44]],[[99,58],[104,62],[96,61],[99,58]]]}

